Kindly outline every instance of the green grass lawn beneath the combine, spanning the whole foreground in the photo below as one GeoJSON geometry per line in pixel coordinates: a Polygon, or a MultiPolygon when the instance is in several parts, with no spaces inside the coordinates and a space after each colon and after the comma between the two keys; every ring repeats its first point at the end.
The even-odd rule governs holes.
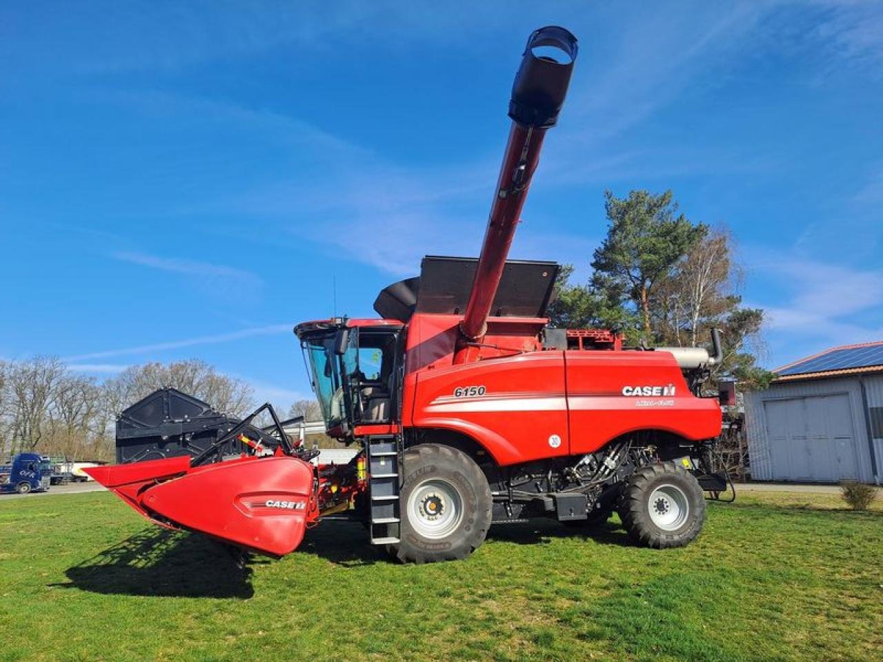
{"type": "Polygon", "coordinates": [[[751,493],[685,549],[556,523],[401,566],[351,523],[238,568],[107,493],[0,501],[0,659],[840,660],[883,657],[883,510],[751,493]]]}

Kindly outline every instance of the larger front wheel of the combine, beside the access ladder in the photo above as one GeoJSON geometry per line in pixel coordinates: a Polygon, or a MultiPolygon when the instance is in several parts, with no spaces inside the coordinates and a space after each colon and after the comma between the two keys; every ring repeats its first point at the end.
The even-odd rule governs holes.
{"type": "Polygon", "coordinates": [[[493,499],[487,478],[456,448],[420,444],[404,452],[407,474],[399,499],[397,560],[433,563],[465,559],[487,536],[493,499]]]}

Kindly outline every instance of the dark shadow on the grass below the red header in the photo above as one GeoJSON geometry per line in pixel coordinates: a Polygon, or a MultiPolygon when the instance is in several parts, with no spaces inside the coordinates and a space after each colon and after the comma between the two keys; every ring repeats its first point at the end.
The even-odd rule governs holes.
{"type": "MultiPolygon", "coordinates": [[[[260,562],[260,561],[257,561],[260,562]]],[[[65,571],[95,593],[176,598],[251,598],[251,569],[205,536],[149,527],[65,571]]]]}

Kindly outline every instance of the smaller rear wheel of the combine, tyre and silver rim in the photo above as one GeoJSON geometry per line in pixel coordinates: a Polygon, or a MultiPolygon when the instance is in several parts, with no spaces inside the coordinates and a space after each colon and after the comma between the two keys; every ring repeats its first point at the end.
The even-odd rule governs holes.
{"type": "Polygon", "coordinates": [[[683,547],[706,521],[706,499],[690,471],[673,462],[649,464],[623,485],[619,516],[638,545],[683,547]]]}

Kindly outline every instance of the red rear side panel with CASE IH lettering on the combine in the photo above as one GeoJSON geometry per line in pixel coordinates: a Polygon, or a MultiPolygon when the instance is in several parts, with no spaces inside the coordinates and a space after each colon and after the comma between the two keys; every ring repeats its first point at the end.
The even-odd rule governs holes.
{"type": "Polygon", "coordinates": [[[591,453],[636,430],[688,440],[721,433],[721,408],[691,394],[675,358],[655,351],[568,351],[570,452],[591,453]]]}

